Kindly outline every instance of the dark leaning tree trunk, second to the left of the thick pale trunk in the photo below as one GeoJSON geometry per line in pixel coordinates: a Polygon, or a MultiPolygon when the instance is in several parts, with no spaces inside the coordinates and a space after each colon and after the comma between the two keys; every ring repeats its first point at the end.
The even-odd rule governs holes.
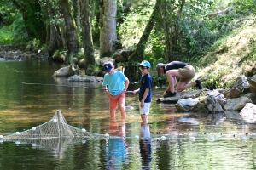
{"type": "Polygon", "coordinates": [[[79,51],[78,35],[73,24],[73,17],[71,15],[71,7],[68,0],[60,0],[61,14],[63,14],[65,25],[67,28],[67,54],[70,59],[67,59],[68,63],[73,62],[72,54],[76,54],[79,51]]]}

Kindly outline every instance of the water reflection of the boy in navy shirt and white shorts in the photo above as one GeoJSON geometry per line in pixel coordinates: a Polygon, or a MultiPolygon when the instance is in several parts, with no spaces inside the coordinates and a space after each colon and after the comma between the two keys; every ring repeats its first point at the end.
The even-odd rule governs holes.
{"type": "Polygon", "coordinates": [[[143,169],[150,169],[151,162],[151,139],[149,126],[142,122],[141,124],[140,152],[142,157],[143,169]]]}

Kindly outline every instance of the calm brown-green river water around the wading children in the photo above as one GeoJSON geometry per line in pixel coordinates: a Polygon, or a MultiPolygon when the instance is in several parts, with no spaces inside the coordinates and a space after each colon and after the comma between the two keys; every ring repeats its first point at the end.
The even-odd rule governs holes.
{"type": "Polygon", "coordinates": [[[60,110],[69,125],[110,134],[110,139],[49,139],[40,144],[0,139],[0,169],[256,168],[254,124],[223,114],[179,113],[153,96],[144,125],[136,94],[126,94],[127,118],[117,111],[117,121],[110,122],[102,84],[51,77],[62,66],[42,60],[0,62],[0,135],[36,127],[60,110]]]}

